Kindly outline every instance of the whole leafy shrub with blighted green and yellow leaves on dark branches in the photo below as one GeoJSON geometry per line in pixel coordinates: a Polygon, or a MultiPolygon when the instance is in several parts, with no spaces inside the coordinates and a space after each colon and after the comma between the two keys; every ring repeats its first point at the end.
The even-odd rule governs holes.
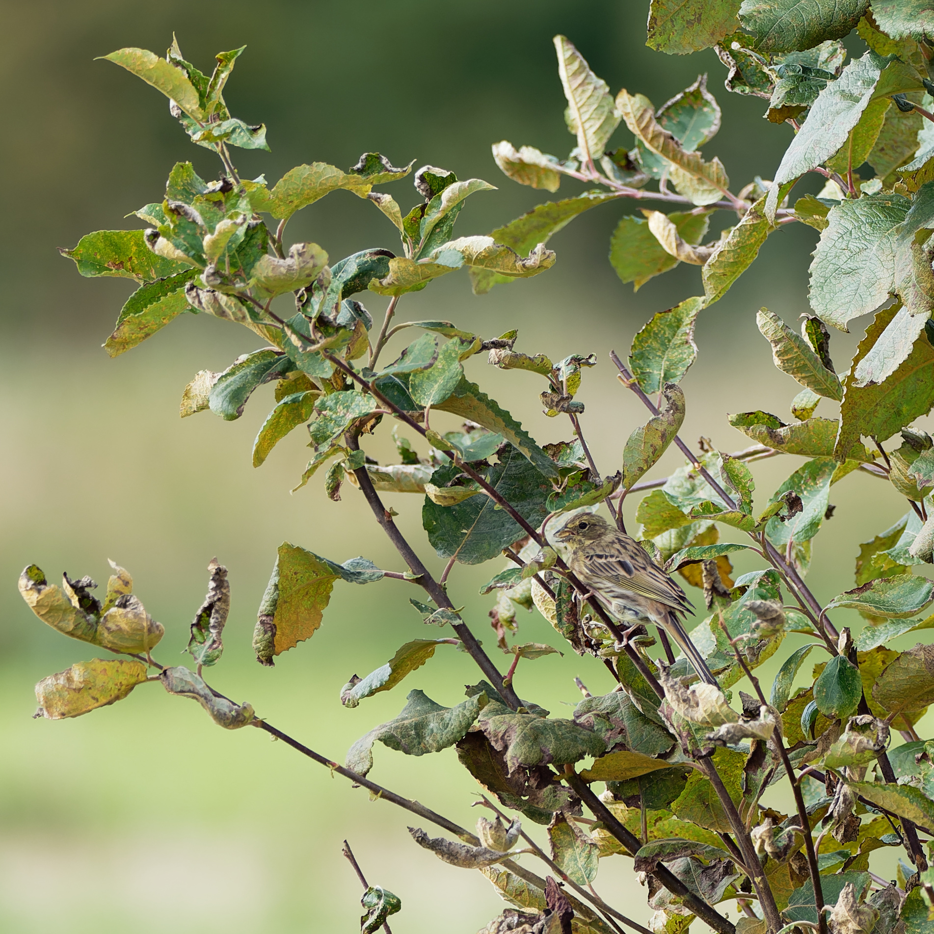
{"type": "MultiPolygon", "coordinates": [[[[219,177],[210,181],[199,177],[191,163],[177,163],[164,191],[155,195],[158,200],[134,212],[148,225],[145,230],[89,233],[77,247],[62,251],[82,276],[124,277],[137,286],[120,311],[106,351],[116,356],[135,347],[182,312],[248,328],[259,346],[220,373],[195,375],[184,389],[180,414],[209,409],[236,419],[257,389],[275,382],[276,404],[257,434],[254,466],[261,466],[287,434],[306,426],[313,451],[299,487],[327,465],[322,473],[328,502],[316,508],[337,509],[333,503],[341,501],[342,490],[346,496],[359,491],[402,561],[402,571],[384,572],[367,559],[338,563],[297,545],[280,545],[254,630],[258,660],[272,665],[277,655],[318,630],[335,582],[392,578],[379,585],[386,587],[387,599],[391,588],[415,585],[421,599],[409,600],[422,621],[449,626],[452,635],[400,638],[389,661],[363,678],[350,677],[340,702],[366,710],[369,705],[361,701],[417,677],[443,644],[458,649],[452,658],[466,662],[470,656],[487,680],[468,687],[467,700],[451,706],[411,691],[400,715],[354,743],[344,769],[257,718],[251,705],[237,704],[205,682],[204,669],[221,660],[230,607],[227,570],[216,559],[209,566],[205,601],[189,630],[194,672],[166,668],[152,658],[163,626],[134,596],[125,570],[113,566],[104,599],[98,600],[90,577],[65,575],[58,587],[29,565],[20,590],[35,616],[65,636],[132,656],[78,661],[43,679],[36,686],[40,715],[83,715],[120,701],[135,686],[159,680],[168,693],[197,701],[224,729],[252,726],[284,738],[367,785],[375,796],[403,803],[460,837],[457,843],[413,829],[420,845],[449,863],[479,869],[504,898],[535,912],[503,913],[488,926],[496,934],[519,927],[547,934],[566,934],[569,927],[573,934],[608,934],[610,928],[585,901],[601,907],[589,886],[601,857],[619,854],[635,856],[635,869],[649,876],[649,904],[657,912],[653,930],[679,934],[700,912],[722,934],[733,934],[725,917],[708,917],[704,906],[676,893],[672,877],[708,909],[721,899],[750,895],[763,920],[744,917],[735,928],[740,934],[777,934],[796,921],[816,924],[820,901],[832,912],[833,931],[857,934],[853,924],[845,927],[843,921],[874,921],[876,913],[893,929],[901,922],[908,932],[926,929],[927,876],[902,905],[888,899],[889,890],[868,892],[868,870],[876,848],[899,843],[920,866],[924,855],[913,851],[909,829],[912,823],[922,829],[934,826],[932,741],[918,739],[889,752],[885,745],[890,729],[903,735],[922,729],[916,725],[934,704],[931,646],[919,643],[902,652],[887,647],[910,632],[927,638],[934,627],[934,616],[922,618],[934,598],[932,584],[927,576],[911,573],[934,559],[934,502],[927,495],[934,484],[934,443],[914,424],[934,407],[929,320],[934,311],[934,136],[925,114],[914,109],[923,100],[929,104],[922,94],[931,87],[932,34],[927,7],[914,0],[885,0],[871,10],[865,0],[652,0],[647,27],[652,48],[686,54],[715,47],[728,68],[729,91],[767,100],[765,116],[772,123],[791,121],[795,134],[784,155],[779,160],[774,153],[774,162],[780,162],[774,181],[756,177],[738,193],[730,190],[723,164],[701,152],[721,122],[706,76],[656,108],[638,91],[623,89],[613,96],[581,52],[556,36],[573,149],[561,159],[503,140],[493,146],[493,158],[506,177],[533,189],[557,191],[562,177],[586,189],[537,205],[488,234],[464,235],[454,228],[467,199],[494,187],[478,178],[460,180],[450,169],[417,169],[413,181],[419,200],[409,208],[401,206],[401,196],[397,201],[376,189],[409,176],[414,163],[397,167],[376,152],[363,153],[346,171],[328,163],[299,165],[272,186],[263,177],[239,177],[230,147],[267,148],[265,126],[233,118],[223,100],[243,49],[219,53],[210,76],[186,62],[176,42],[165,59],[137,49],[106,56],[169,98],[172,115],[192,142],[215,152],[221,165],[219,177]],[[868,50],[845,64],[840,40],[854,27],[852,41],[864,42],[868,50]],[[627,131],[634,139],[631,149],[614,142],[617,133],[627,131]],[[865,163],[872,179],[860,176],[865,163]],[[824,190],[805,193],[788,206],[792,187],[815,172],[828,180],[824,190]],[[649,187],[656,183],[658,191],[649,187]],[[393,238],[398,234],[399,242],[339,259],[317,243],[290,243],[290,218],[334,191],[372,202],[389,219],[387,230],[395,232],[393,238]],[[686,262],[701,266],[703,293],[694,289],[694,297],[658,311],[638,330],[629,353],[631,373],[613,355],[619,391],[632,390],[651,417],[634,419],[628,440],[619,439],[621,471],[603,475],[591,459],[587,434],[606,432],[610,423],[587,411],[591,403],[582,391],[584,371],[601,354],[572,342],[557,347],[564,356],[556,363],[545,353],[531,352],[535,347],[528,353],[517,350],[515,330],[483,337],[452,321],[399,316],[409,292],[463,267],[470,271],[476,294],[545,272],[556,262],[555,252],[545,247],[552,236],[590,209],[624,199],[677,209],[668,214],[646,209],[642,216],[623,212],[616,221],[609,259],[622,282],[638,289],[686,262]],[[732,226],[715,242],[703,243],[719,210],[729,212],[732,226]],[[774,365],[802,388],[791,400],[763,404],[784,411],[790,403],[797,421],[786,425],[762,410],[731,415],[729,425],[751,439],[752,447],[729,455],[703,438],[700,454],[690,454],[683,466],[656,480],[651,472],[672,444],[690,450],[678,436],[688,402],[679,383],[698,355],[694,334],[701,313],[757,259],[769,235],[780,235],[794,223],[818,232],[812,234],[813,315],[802,316],[800,334],[765,308],[756,322],[774,365]],[[385,305],[379,327],[359,300],[363,292],[385,305]],[[835,367],[827,326],[846,331],[873,312],[852,361],[838,361],[835,367]],[[392,359],[387,342],[408,328],[423,333],[392,359]],[[502,402],[474,382],[482,379],[483,367],[474,360],[481,350],[503,371],[498,375],[498,385],[506,387],[502,402]],[[509,372],[514,370],[525,372],[509,372]],[[815,416],[822,398],[830,401],[825,407],[840,403],[839,417],[815,416]],[[516,411],[540,404],[547,417],[559,419],[546,424],[564,427],[551,438],[533,438],[507,403],[516,411]],[[457,431],[449,430],[449,416],[464,422],[457,431]],[[409,437],[393,432],[399,462],[377,463],[371,438],[385,433],[389,422],[402,424],[410,437],[420,434],[428,455],[421,457],[409,437]],[[899,433],[901,438],[889,443],[899,433]],[[572,440],[561,440],[568,437],[572,440]],[[773,454],[805,460],[789,468],[791,474],[771,496],[762,497],[764,502],[755,502],[755,460],[773,454]],[[871,529],[859,532],[867,541],[853,548],[858,548],[856,587],[821,604],[804,578],[818,533],[832,515],[831,487],[856,471],[872,475],[865,477],[867,483],[890,484],[895,495],[911,502],[911,510],[899,518],[902,506],[889,520],[894,524],[874,537],[871,529]],[[422,564],[418,543],[403,538],[401,528],[409,535],[411,523],[406,517],[395,524],[398,513],[382,501],[383,492],[424,498],[422,531],[447,562],[440,579],[422,564]],[[595,559],[611,570],[596,575],[598,583],[587,589],[568,564],[590,559],[581,557],[579,543],[553,537],[565,521],[558,516],[609,503],[617,519],[623,497],[628,505],[640,497],[633,505],[642,541],[617,537],[612,524],[601,531],[606,538],[595,545],[595,559]],[[721,527],[742,541],[721,541],[721,527]],[[729,556],[741,552],[756,567],[734,582],[729,556]],[[640,583],[630,559],[644,555],[654,565],[640,583]],[[474,635],[470,613],[454,602],[461,586],[458,564],[503,558],[506,567],[491,570],[481,588],[482,594],[496,591],[489,614],[495,645],[490,639],[485,647],[474,635]],[[690,605],[682,603],[681,590],[667,576],[675,572],[698,588],[693,603],[702,600],[710,611],[689,627],[689,636],[674,618],[674,611],[680,614],[690,605]],[[609,595],[601,589],[604,578],[609,595]],[[605,612],[607,606],[612,613],[605,612]],[[559,651],[553,644],[517,641],[519,608],[535,608],[545,616],[555,637],[570,644],[582,664],[601,674],[609,669],[618,688],[591,697],[578,682],[585,698],[571,719],[519,698],[514,684],[523,684],[532,660],[545,659],[534,662],[545,666],[547,657],[559,651]],[[842,614],[852,610],[865,620],[855,639],[842,630],[852,625],[842,614]],[[672,665],[661,660],[653,648],[658,627],[690,652],[690,663],[684,654],[672,665]],[[808,643],[780,658],[769,701],[764,695],[740,694],[741,714],[724,691],[778,652],[789,631],[806,634],[808,643]],[[512,663],[508,672],[499,671],[488,648],[500,660],[502,651],[512,663]],[[807,683],[795,691],[815,648],[826,650],[828,658],[820,658],[807,683]],[[149,667],[159,673],[150,675],[149,667]],[[693,681],[695,671],[700,683],[693,681]],[[776,729],[779,718],[781,729],[776,729]],[[508,831],[502,825],[498,836],[491,835],[487,822],[478,831],[483,843],[478,846],[470,831],[366,779],[376,742],[409,756],[457,746],[460,765],[503,808],[548,826],[552,858],[566,876],[565,887],[555,885],[553,876],[540,878],[509,855],[520,833],[518,820],[508,831]],[[780,743],[791,775],[779,755],[780,743]],[[897,782],[886,781],[891,774],[887,764],[897,782]],[[796,770],[806,765],[824,771],[828,789],[837,789],[833,799],[824,798],[823,790],[815,798],[814,781],[808,779],[802,783],[807,814],[780,814],[775,802],[763,796],[776,782],[797,780],[796,770]],[[711,781],[709,769],[718,781],[711,781]],[[586,788],[598,782],[607,787],[595,802],[586,788]],[[593,820],[578,819],[585,808],[593,820]],[[882,818],[877,823],[873,815],[879,810],[892,825],[882,818]],[[801,856],[805,821],[812,842],[814,834],[822,842],[821,874],[814,877],[801,856]],[[888,839],[890,827],[899,833],[888,839]],[[731,835],[729,852],[720,834],[731,835]],[[490,848],[494,840],[502,848],[490,848]],[[743,851],[743,866],[732,861],[734,842],[743,851]],[[741,873],[756,865],[762,873],[751,880],[750,891],[741,873]]],[[[318,234],[326,247],[328,236],[327,231],[318,234]]],[[[560,336],[566,341],[574,333],[569,326],[560,336]]],[[[764,364],[764,345],[761,350],[764,364]]],[[[729,362],[722,360],[728,369],[729,362]]],[[[743,398],[742,392],[736,395],[743,398]]],[[[715,435],[713,429],[710,434],[715,435]]],[[[823,592],[822,587],[815,590],[823,592]]],[[[417,625],[416,617],[410,618],[417,625]]],[[[333,625],[339,627],[340,621],[333,625]]],[[[365,645],[360,654],[367,658],[365,645]]],[[[373,663],[368,658],[361,670],[373,663]]],[[[376,930],[400,908],[399,899],[380,886],[369,886],[362,904],[366,931],[376,930]]],[[[869,927],[858,930],[866,934],[869,927]]]]}

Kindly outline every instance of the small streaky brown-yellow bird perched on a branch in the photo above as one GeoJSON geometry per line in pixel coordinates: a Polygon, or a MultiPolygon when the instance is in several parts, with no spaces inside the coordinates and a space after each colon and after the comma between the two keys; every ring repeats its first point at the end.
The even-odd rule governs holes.
{"type": "Polygon", "coordinates": [[[555,537],[568,547],[568,567],[613,616],[633,622],[652,620],[672,636],[701,681],[716,685],[678,618],[691,608],[685,591],[635,539],[590,513],[573,517],[555,537]]]}

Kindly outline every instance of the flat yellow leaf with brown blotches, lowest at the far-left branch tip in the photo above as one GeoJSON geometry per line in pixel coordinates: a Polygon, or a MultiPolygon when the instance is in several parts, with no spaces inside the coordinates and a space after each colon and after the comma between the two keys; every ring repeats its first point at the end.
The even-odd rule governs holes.
{"type": "Polygon", "coordinates": [[[38,715],[50,720],[87,714],[121,701],[147,679],[146,665],[135,659],[94,658],[50,674],[35,686],[38,715]]]}

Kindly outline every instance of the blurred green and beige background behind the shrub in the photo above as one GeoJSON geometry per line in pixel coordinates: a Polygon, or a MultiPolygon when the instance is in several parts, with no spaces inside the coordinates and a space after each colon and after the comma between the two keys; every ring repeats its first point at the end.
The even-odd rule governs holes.
{"type": "MultiPolygon", "coordinates": [[[[362,789],[352,790],[259,731],[222,732],[195,704],[169,698],[158,686],[143,686],[127,701],[78,720],[30,719],[35,681],[91,657],[82,644],[43,627],[22,603],[16,577],[31,561],[52,579],[67,571],[106,581],[108,557],[126,566],[135,591],[166,626],[158,656],[171,662],[204,597],[205,566],[217,555],[230,568],[233,610],[212,682],[330,757],[342,758],[357,737],[395,715],[406,690],[421,687],[453,704],[462,699],[461,686],[477,679],[470,658],[442,646],[391,695],[355,710],[341,707],[338,691],[351,673],[373,670],[399,644],[425,635],[406,586],[391,580],[337,587],[312,641],[272,670],[253,660],[256,607],[282,541],[338,560],[362,553],[390,569],[402,570],[401,563],[352,488],[342,502],[329,502],[319,474],[309,488],[290,494],[307,455],[301,432],[261,470],[252,469],[250,446],[268,411],[270,387],[239,421],[224,423],[210,413],[179,421],[178,399],[191,376],[220,370],[257,347],[252,334],[183,316],[117,360],[101,349],[131,284],[82,279],[55,248],[73,246],[92,230],[124,226],[124,215],[162,197],[173,163],[191,159],[207,177],[217,167],[170,119],[161,95],[93,57],[125,46],[161,53],[175,31],[186,57],[208,69],[218,50],[248,43],[226,96],[235,116],[267,123],[273,152],[236,150],[244,176],[264,173],[272,182],[297,163],[347,166],[362,151],[378,149],[396,164],[416,159],[500,186],[472,198],[460,218],[461,235],[486,233],[545,200],[543,192],[502,177],[490,144],[507,138],[559,155],[573,146],[551,45],[559,32],[613,92],[623,86],[644,92],[657,106],[709,70],[724,125],[705,152],[723,160],[734,191],[755,175],[770,177],[791,131],[760,119],[763,102],[723,90],[725,72],[712,51],[669,58],[646,49],[647,6],[647,0],[540,0],[534,7],[490,0],[7,4],[0,59],[7,138],[0,156],[6,180],[0,227],[4,931],[354,930],[360,891],[340,856],[345,837],[370,881],[402,897],[403,913],[392,919],[397,934],[470,934],[502,909],[478,873],[446,867],[408,839],[409,815],[368,801],[362,789]]],[[[617,145],[631,145],[627,137],[620,130],[617,145]]],[[[416,200],[409,184],[391,189],[403,209],[416,200]]],[[[566,181],[561,195],[580,188],[566,181]]],[[[802,184],[806,190],[816,187],[802,184]]],[[[553,359],[596,351],[600,365],[586,374],[578,398],[587,404],[585,430],[607,474],[618,467],[632,427],[645,418],[616,383],[607,351],[624,352],[654,312],[701,289],[699,270],[684,266],[637,295],[618,281],[606,260],[608,237],[620,215],[637,207],[604,206],[576,220],[550,244],[559,262],[544,276],[485,297],[471,295],[465,274],[446,276],[400,307],[405,317],[450,318],[488,335],[518,327],[520,349],[553,359]]],[[[720,224],[729,222],[724,217],[720,224]]],[[[135,226],[134,219],[128,223],[135,226]]],[[[395,244],[373,205],[340,191],[305,209],[289,233],[292,240],[318,242],[333,260],[395,244]]],[[[796,385],[771,367],[754,312],[765,304],[793,323],[806,310],[815,236],[799,225],[773,236],[729,296],[701,316],[701,356],[684,383],[684,436],[691,444],[704,434],[724,450],[746,446],[729,428],[728,411],[761,407],[788,417],[796,385]]],[[[375,314],[385,307],[378,296],[361,297],[375,314]]],[[[857,337],[834,335],[838,369],[857,337]]],[[[494,396],[515,393],[510,408],[540,442],[569,437],[565,424],[541,414],[536,377],[492,371],[476,358],[468,371],[494,396]]],[[[389,447],[377,441],[372,452],[387,459],[389,447]]],[[[670,453],[653,475],[677,463],[670,453]]],[[[798,459],[758,465],[763,496],[797,466],[798,459]]],[[[852,586],[854,543],[904,512],[887,487],[865,474],[849,476],[831,499],[837,512],[815,544],[811,571],[822,600],[852,586]]],[[[418,539],[420,500],[389,500],[427,555],[428,545],[418,539]]],[[[430,557],[432,566],[439,564],[430,557]]],[[[739,563],[740,570],[752,566],[739,563]]],[[[498,569],[496,562],[461,568],[451,584],[474,632],[494,650],[490,604],[476,591],[498,569]]],[[[559,644],[537,614],[520,621],[523,640],[559,644]]],[[[851,621],[860,625],[858,617],[851,621]]],[[[774,667],[763,670],[767,685],[774,667]]],[[[575,674],[595,692],[610,689],[600,665],[573,654],[523,663],[517,687],[556,715],[569,715],[564,705],[579,699],[575,674]]],[[[372,777],[471,826],[476,785],[455,766],[453,750],[416,760],[378,746],[372,777]]],[[[780,793],[772,800],[785,803],[780,793]]],[[[874,868],[894,874],[891,858],[880,857],[874,868]]],[[[597,887],[644,920],[644,890],[629,866],[605,861],[597,887]]]]}

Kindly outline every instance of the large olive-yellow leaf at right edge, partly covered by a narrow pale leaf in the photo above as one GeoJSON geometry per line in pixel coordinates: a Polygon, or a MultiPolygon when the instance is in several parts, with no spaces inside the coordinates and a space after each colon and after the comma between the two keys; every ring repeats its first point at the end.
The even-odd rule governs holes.
{"type": "MultiPolygon", "coordinates": [[[[896,307],[892,306],[876,315],[856,350],[854,370],[896,314],[896,307]]],[[[841,426],[834,451],[838,459],[843,451],[852,449],[860,435],[870,436],[881,443],[910,425],[915,418],[927,415],[934,404],[932,364],[934,347],[922,333],[914,342],[908,359],[881,385],[856,386],[853,372],[844,378],[841,426]]]]}

